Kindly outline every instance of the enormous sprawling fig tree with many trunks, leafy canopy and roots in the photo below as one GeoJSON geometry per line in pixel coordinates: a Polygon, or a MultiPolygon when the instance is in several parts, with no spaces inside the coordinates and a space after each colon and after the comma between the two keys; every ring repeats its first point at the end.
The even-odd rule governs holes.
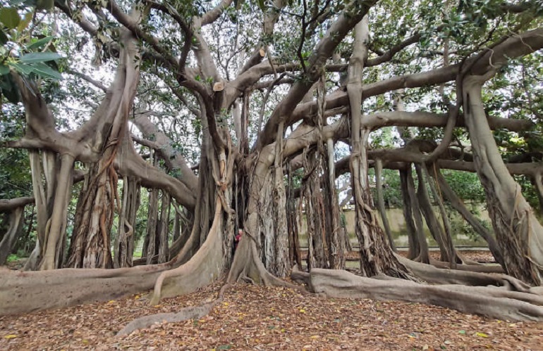
{"type": "Polygon", "coordinates": [[[533,142],[542,113],[537,2],[6,3],[2,96],[24,107],[25,134],[3,146],[28,150],[33,198],[3,200],[0,210],[12,213],[12,237],[20,208],[34,202],[37,241],[26,265],[35,272],[2,272],[1,310],[153,286],[157,303],[226,272],[229,282],[289,285],[281,278],[300,266],[305,220],[309,273],[292,276],[312,292],[542,319],[534,286],[543,282],[543,227],[511,175],[543,192],[533,162],[542,152],[533,142]],[[372,133],[390,126],[397,141],[370,147],[372,133]],[[502,158],[493,130],[524,138],[535,157],[502,158]],[[399,172],[409,259],[377,222],[370,167],[385,223],[382,170],[399,172]],[[477,172],[495,236],[441,169],[477,172]],[[341,270],[350,243],[335,179],[346,172],[359,277],[341,270]],[[142,188],[143,257],[133,260],[142,188]],[[501,267],[456,252],[444,198],[501,267]],[[429,258],[424,222],[439,262],[429,258]]]}

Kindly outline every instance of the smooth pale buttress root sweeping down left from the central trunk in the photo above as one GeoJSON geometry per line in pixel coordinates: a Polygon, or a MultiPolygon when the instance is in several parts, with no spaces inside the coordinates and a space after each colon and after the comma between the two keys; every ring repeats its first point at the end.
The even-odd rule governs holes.
{"type": "Polygon", "coordinates": [[[204,245],[185,264],[160,274],[154,284],[150,305],[157,305],[161,298],[192,293],[219,277],[225,263],[222,252],[221,214],[221,199],[217,197],[215,217],[204,245]]]}

